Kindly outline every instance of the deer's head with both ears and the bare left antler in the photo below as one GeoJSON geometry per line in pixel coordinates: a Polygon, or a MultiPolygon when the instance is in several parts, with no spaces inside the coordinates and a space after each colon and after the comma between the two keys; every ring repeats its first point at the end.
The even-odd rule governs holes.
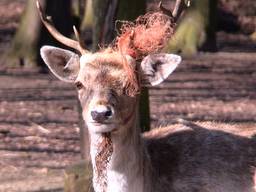
{"type": "Polygon", "coordinates": [[[48,31],[58,41],[79,52],[77,54],[53,46],[43,46],[40,50],[51,72],[60,80],[73,83],[77,87],[83,118],[90,132],[118,131],[136,113],[140,87],[160,84],[181,62],[178,55],[145,55],[145,52],[138,54],[142,52],[141,47],[137,46],[135,49],[133,45],[128,48],[126,45],[134,44],[133,40],[136,40],[136,34],[141,33],[141,28],[125,30],[123,36],[117,39],[117,48],[91,53],[79,41],[76,30],[74,31],[78,41],[64,37],[43,13],[39,2],[37,6],[48,31]]]}

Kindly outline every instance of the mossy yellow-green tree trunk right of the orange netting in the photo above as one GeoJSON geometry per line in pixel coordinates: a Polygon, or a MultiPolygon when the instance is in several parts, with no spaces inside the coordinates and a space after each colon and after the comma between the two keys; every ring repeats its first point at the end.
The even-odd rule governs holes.
{"type": "Polygon", "coordinates": [[[185,56],[196,54],[198,49],[216,51],[216,9],[217,0],[191,1],[166,50],[185,56]]]}

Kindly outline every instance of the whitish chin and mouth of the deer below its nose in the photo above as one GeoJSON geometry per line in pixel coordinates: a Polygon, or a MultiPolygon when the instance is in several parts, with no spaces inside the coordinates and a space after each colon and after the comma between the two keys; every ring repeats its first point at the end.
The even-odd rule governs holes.
{"type": "Polygon", "coordinates": [[[90,132],[95,134],[109,133],[116,130],[116,124],[114,123],[89,122],[87,126],[90,132]]]}

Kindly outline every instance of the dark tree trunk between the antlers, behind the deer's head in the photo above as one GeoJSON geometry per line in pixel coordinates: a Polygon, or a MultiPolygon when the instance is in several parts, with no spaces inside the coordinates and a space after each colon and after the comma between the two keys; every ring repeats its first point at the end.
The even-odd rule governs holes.
{"type": "Polygon", "coordinates": [[[93,0],[93,49],[109,44],[116,35],[116,20],[133,21],[145,13],[145,0],[93,0]]]}

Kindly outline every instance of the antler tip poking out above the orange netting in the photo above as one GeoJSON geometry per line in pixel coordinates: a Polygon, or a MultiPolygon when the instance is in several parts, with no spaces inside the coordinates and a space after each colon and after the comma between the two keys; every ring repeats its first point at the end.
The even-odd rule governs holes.
{"type": "Polygon", "coordinates": [[[175,6],[173,11],[171,12],[170,10],[166,9],[163,7],[162,1],[160,1],[158,7],[160,8],[160,10],[170,16],[174,22],[176,22],[178,20],[178,18],[180,17],[183,9],[187,8],[190,6],[190,0],[188,0],[187,2],[185,2],[185,0],[176,0],[175,6]]]}

